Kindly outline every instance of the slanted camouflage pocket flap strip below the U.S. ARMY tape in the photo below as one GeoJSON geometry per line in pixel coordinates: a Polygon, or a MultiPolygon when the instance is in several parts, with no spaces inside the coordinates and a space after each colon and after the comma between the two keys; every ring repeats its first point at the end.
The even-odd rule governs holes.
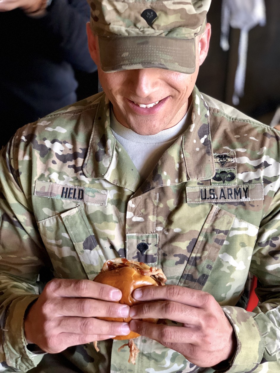
{"type": "Polygon", "coordinates": [[[203,289],[234,219],[234,214],[211,207],[178,285],[203,289]]]}

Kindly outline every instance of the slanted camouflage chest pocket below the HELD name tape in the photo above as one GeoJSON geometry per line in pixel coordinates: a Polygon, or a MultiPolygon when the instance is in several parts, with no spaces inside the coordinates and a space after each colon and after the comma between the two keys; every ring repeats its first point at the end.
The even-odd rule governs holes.
{"type": "Polygon", "coordinates": [[[37,224],[58,277],[93,279],[110,259],[101,251],[82,205],[37,224]]]}

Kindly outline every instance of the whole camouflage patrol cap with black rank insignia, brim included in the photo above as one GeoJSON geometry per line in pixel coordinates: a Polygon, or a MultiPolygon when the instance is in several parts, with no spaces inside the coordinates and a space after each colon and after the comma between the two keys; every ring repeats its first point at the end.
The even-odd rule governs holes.
{"type": "Polygon", "coordinates": [[[162,68],[193,73],[195,38],[211,0],[87,0],[98,35],[101,68],[162,68]]]}

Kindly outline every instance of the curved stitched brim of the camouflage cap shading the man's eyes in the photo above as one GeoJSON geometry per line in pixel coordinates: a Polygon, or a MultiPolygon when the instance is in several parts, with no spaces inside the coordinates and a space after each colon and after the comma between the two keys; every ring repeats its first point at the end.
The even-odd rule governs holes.
{"type": "Polygon", "coordinates": [[[195,38],[99,36],[98,41],[105,72],[160,68],[192,74],[196,69],[195,38]]]}

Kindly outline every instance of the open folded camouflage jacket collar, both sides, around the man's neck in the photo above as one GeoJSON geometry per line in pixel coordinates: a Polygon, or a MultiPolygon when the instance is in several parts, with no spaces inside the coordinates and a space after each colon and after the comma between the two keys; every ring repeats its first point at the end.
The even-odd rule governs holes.
{"type": "MultiPolygon", "coordinates": [[[[142,192],[163,185],[207,180],[215,175],[209,107],[196,87],[192,98],[187,130],[163,154],[142,185],[142,192]]],[[[93,121],[83,171],[89,178],[103,178],[131,191],[136,191],[141,182],[134,164],[110,129],[110,102],[105,94],[101,96],[93,121]]]]}

